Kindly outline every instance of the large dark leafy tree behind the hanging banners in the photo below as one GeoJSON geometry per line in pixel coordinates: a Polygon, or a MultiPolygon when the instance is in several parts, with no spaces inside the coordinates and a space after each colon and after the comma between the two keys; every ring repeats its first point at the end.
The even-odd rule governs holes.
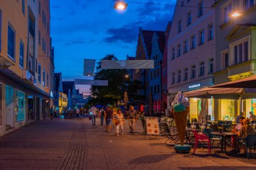
{"type": "MultiPolygon", "coordinates": [[[[108,54],[101,60],[117,60],[113,54],[108,54]]],[[[100,61],[101,61],[100,60],[100,61]]],[[[92,86],[92,99],[90,102],[94,104],[117,104],[117,101],[123,99],[123,94],[127,91],[131,99],[141,98],[137,95],[137,89],[142,89],[140,81],[131,82],[130,79],[125,79],[127,70],[125,69],[101,69],[101,62],[97,62],[96,73],[94,80],[108,80],[108,86],[92,86]]]]}

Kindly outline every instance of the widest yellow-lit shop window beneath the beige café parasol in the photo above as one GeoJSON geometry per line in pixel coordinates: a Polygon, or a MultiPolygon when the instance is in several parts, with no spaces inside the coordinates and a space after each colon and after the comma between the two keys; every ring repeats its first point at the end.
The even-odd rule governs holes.
{"type": "Polygon", "coordinates": [[[233,120],[236,118],[237,102],[235,99],[220,99],[220,120],[233,120]]]}

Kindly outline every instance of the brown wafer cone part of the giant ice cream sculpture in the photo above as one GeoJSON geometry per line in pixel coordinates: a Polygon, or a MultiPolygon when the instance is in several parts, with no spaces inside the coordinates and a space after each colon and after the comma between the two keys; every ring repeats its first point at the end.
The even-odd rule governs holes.
{"type": "Polygon", "coordinates": [[[189,113],[189,106],[183,112],[174,112],[174,120],[179,134],[179,140],[181,146],[183,146],[185,134],[186,134],[186,124],[187,124],[187,114],[189,113]]]}

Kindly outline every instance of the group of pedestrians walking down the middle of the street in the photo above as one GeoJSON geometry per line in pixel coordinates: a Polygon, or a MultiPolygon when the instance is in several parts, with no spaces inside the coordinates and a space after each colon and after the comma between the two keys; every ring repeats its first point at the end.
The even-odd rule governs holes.
{"type": "MultiPolygon", "coordinates": [[[[99,110],[92,106],[90,108],[90,118],[92,120],[92,126],[96,126],[96,113],[100,115],[100,124],[103,126],[104,120],[106,122],[106,132],[110,133],[112,126],[116,127],[117,136],[119,136],[119,129],[121,128],[121,135],[123,134],[123,126],[125,124],[125,118],[123,116],[122,110],[117,108],[111,108],[110,105],[107,105],[106,110],[100,108],[99,110]]],[[[134,107],[131,106],[128,111],[128,120],[130,134],[134,133],[135,122],[137,121],[137,112],[134,110],[134,107]]]]}

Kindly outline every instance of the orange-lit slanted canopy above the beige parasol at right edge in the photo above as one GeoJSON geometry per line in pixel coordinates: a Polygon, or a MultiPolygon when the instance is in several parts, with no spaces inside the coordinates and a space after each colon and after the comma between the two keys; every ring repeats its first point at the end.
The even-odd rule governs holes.
{"type": "Polygon", "coordinates": [[[219,85],[214,85],[217,87],[228,87],[228,88],[256,88],[256,75],[247,77],[244,79],[238,79],[236,81],[230,81],[228,83],[222,83],[219,85]]]}

